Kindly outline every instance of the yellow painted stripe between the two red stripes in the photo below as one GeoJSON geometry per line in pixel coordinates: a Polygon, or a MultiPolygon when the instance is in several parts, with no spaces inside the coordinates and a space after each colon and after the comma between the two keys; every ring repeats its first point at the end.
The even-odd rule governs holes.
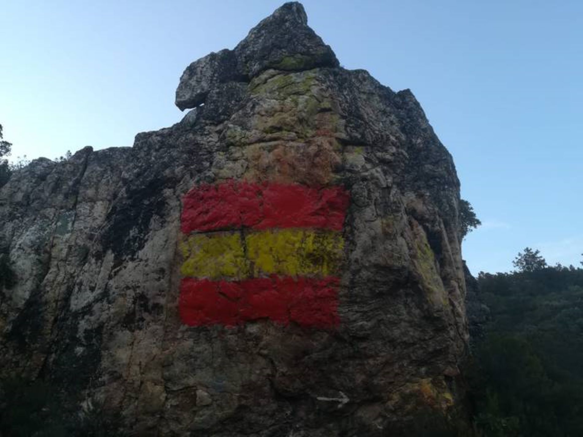
{"type": "Polygon", "coordinates": [[[220,279],[281,274],[329,276],[342,259],[337,231],[283,229],[191,235],[181,242],[182,276],[220,279]]]}

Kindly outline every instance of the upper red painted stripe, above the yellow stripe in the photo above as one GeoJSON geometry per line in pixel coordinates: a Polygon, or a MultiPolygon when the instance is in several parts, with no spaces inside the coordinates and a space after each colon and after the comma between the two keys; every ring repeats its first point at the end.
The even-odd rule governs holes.
{"type": "Polygon", "coordinates": [[[349,203],[340,186],[250,184],[229,181],[197,186],[184,196],[182,232],[251,227],[342,230],[349,203]]]}

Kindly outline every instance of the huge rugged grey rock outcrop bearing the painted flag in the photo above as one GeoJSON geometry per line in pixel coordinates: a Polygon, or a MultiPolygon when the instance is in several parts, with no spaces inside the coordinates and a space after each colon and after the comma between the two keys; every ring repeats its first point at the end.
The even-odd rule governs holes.
{"type": "Polygon", "coordinates": [[[383,436],[451,417],[468,341],[459,182],[413,94],[340,68],[286,3],[191,64],[176,104],[194,109],[131,148],[35,160],[0,188],[16,279],[0,378],[120,413],[130,435],[383,436]],[[269,222],[286,189],[318,200],[269,222]],[[278,315],[283,291],[240,287],[284,276],[278,315]],[[196,284],[225,283],[238,294],[193,303],[196,284]]]}

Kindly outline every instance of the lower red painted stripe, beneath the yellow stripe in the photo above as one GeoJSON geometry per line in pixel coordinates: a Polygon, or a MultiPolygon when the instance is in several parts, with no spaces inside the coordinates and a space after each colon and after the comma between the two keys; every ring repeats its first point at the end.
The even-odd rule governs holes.
{"type": "Polygon", "coordinates": [[[338,318],[338,278],[271,277],[244,281],[182,279],[178,307],[190,326],[234,326],[270,319],[287,325],[333,327],[338,318]]]}

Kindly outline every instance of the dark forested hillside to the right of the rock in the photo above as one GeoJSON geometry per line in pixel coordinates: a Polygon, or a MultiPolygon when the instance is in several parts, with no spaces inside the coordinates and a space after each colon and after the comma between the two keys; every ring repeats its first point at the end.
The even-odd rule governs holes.
{"type": "Polygon", "coordinates": [[[583,435],[583,269],[520,253],[514,273],[480,273],[490,308],[470,383],[485,436],[583,435]]]}

